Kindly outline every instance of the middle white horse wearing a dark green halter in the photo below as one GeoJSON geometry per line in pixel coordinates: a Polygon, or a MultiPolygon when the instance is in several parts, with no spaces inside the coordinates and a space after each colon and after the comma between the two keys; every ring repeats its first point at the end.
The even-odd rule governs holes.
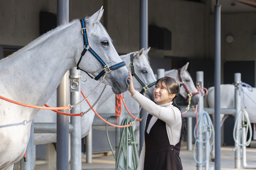
{"type": "MultiPolygon", "coordinates": [[[[144,48],[142,48],[140,51],[132,52],[126,55],[121,55],[121,59],[126,63],[126,67],[129,71],[131,71],[131,59],[130,55],[134,54],[134,71],[140,77],[141,81],[144,82],[146,85],[149,85],[152,82],[156,81],[155,75],[153,73],[153,70],[151,69],[148,61],[147,53],[150,48],[144,51],[144,48]]],[[[92,92],[92,90],[95,88],[95,86],[98,84],[97,81],[88,79],[86,82],[82,82],[81,89],[83,90],[84,94],[87,96],[92,92]]],[[[99,97],[103,86],[100,86],[99,89],[97,89],[90,98],[88,98],[89,102],[92,104],[94,103],[97,98],[99,97]]],[[[134,80],[134,88],[137,90],[141,90],[143,86],[139,83],[139,81],[134,80]]],[[[153,89],[148,89],[146,92],[146,96],[149,98],[153,98],[153,89]]],[[[97,109],[99,106],[101,106],[105,101],[114,99],[115,103],[115,95],[111,90],[110,86],[107,86],[104,90],[99,102],[94,106],[94,109],[97,109]]],[[[56,106],[56,92],[52,95],[50,100],[47,101],[47,104],[51,107],[56,106]]],[[[115,106],[114,106],[115,107],[115,106]]],[[[81,111],[86,111],[90,107],[85,101],[81,104],[81,111]]],[[[110,113],[110,112],[109,112],[110,113]]],[[[94,119],[94,112],[90,110],[88,113],[86,113],[81,118],[81,132],[82,136],[81,138],[85,137],[90,129],[92,128],[92,122],[94,119]]],[[[114,115],[114,113],[113,113],[114,115]]],[[[40,110],[37,115],[34,118],[34,122],[57,122],[56,114],[55,112],[51,110],[40,110]]],[[[56,142],[56,134],[43,134],[43,133],[37,133],[34,134],[34,144],[47,144],[47,143],[53,143],[56,142]]],[[[70,143],[69,143],[70,144],[70,143]]],[[[70,151],[70,148],[69,148],[70,151]]],[[[69,152],[70,157],[70,152],[69,152]]]]}

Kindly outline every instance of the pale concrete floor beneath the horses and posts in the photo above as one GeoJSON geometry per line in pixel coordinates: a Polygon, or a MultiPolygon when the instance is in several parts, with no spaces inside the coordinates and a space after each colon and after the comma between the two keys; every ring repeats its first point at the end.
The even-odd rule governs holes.
{"type": "MultiPolygon", "coordinates": [[[[193,151],[186,150],[186,146],[183,146],[180,150],[180,159],[184,170],[196,170],[196,162],[193,157],[193,151]]],[[[231,146],[221,147],[221,170],[234,170],[234,152],[231,146]]],[[[247,164],[256,165],[256,148],[247,148],[247,164]]],[[[110,152],[108,152],[110,153],[110,152]]],[[[85,159],[82,160],[85,162],[85,159]]],[[[209,163],[210,170],[214,170],[214,162],[209,163]],[[212,168],[212,169],[211,169],[212,168]]],[[[18,165],[14,166],[14,170],[19,170],[18,165]]],[[[70,169],[70,167],[69,167],[70,169]]],[[[82,170],[114,170],[115,158],[113,155],[103,154],[92,158],[92,164],[82,163],[82,170]]],[[[35,170],[49,170],[45,161],[36,161],[35,170]]],[[[236,169],[239,170],[239,169],[236,169]]],[[[248,169],[250,170],[250,169],[248,169]]]]}

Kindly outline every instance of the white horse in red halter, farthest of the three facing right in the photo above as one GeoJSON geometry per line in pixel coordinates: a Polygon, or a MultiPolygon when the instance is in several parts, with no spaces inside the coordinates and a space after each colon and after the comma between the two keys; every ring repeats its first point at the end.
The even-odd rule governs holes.
{"type": "MultiPolygon", "coordinates": [[[[134,64],[136,64],[136,63],[134,63],[134,64]]],[[[184,82],[184,85],[187,87],[187,89],[190,93],[196,93],[197,89],[194,85],[194,82],[193,82],[190,74],[187,71],[188,64],[189,63],[187,63],[186,65],[184,65],[180,69],[180,78],[184,82]]],[[[178,81],[178,83],[180,84],[179,72],[178,72],[177,69],[165,71],[164,76],[171,76],[171,77],[175,78],[178,81]]],[[[156,74],[155,74],[155,77],[156,77],[156,74]]],[[[135,82],[137,79],[133,78],[133,80],[135,82]]],[[[154,87],[155,86],[149,88],[150,92],[152,93],[151,95],[153,95],[154,87]]],[[[139,91],[141,91],[141,89],[139,91]]],[[[184,86],[180,87],[179,94],[184,99],[187,98],[188,92],[186,91],[184,86]]],[[[126,91],[126,92],[124,92],[124,96],[125,96],[124,100],[125,100],[126,106],[128,107],[129,111],[131,113],[138,113],[140,105],[138,104],[138,102],[136,100],[132,99],[131,93],[126,91]]],[[[197,105],[198,102],[199,102],[199,94],[193,95],[192,98],[191,98],[192,105],[197,105]]],[[[97,108],[96,111],[99,112],[99,113],[115,113],[115,95],[113,95],[110,98],[110,100],[106,101],[99,108],[97,108]]],[[[125,113],[127,113],[126,109],[125,109],[125,113]]],[[[105,129],[105,127],[101,127],[101,128],[100,127],[93,127],[93,128],[101,129],[101,130],[105,129]]],[[[108,129],[111,129],[111,128],[108,128],[108,129]]],[[[140,146],[140,140],[139,140],[140,139],[140,124],[139,124],[138,121],[133,124],[133,130],[134,130],[134,135],[135,135],[135,139],[136,139],[136,142],[137,142],[137,144],[136,144],[137,145],[137,150],[139,151],[139,146],[140,146]]]]}

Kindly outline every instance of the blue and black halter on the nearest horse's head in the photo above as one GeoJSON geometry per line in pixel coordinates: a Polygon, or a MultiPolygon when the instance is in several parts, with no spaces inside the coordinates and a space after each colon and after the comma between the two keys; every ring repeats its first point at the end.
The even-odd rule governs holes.
{"type": "Polygon", "coordinates": [[[84,37],[84,50],[82,51],[81,57],[80,57],[80,59],[79,59],[77,65],[76,65],[76,69],[77,69],[77,70],[82,70],[82,69],[80,69],[80,68],[78,67],[78,65],[79,65],[79,63],[81,62],[82,57],[84,56],[84,54],[86,53],[87,50],[89,50],[89,51],[92,53],[92,55],[93,55],[93,56],[103,65],[103,67],[104,67],[103,70],[100,72],[100,74],[99,74],[98,76],[96,76],[95,78],[93,78],[91,75],[89,75],[86,71],[82,70],[82,71],[86,72],[86,74],[88,74],[88,76],[90,76],[90,78],[93,78],[93,79],[95,79],[95,80],[98,80],[104,73],[109,73],[111,70],[115,70],[115,69],[118,69],[118,68],[120,68],[120,67],[125,66],[125,63],[124,63],[124,62],[120,62],[120,63],[117,63],[117,64],[112,65],[112,66],[109,67],[109,66],[100,58],[100,56],[97,55],[97,54],[92,50],[90,44],[88,43],[88,39],[87,39],[87,29],[86,29],[86,26],[85,26],[85,21],[84,21],[84,19],[81,19],[80,22],[81,22],[81,26],[82,26],[82,33],[83,33],[83,35],[84,35],[84,36],[83,36],[83,37],[84,37]],[[89,48],[88,48],[87,46],[89,46],[89,48]]]}

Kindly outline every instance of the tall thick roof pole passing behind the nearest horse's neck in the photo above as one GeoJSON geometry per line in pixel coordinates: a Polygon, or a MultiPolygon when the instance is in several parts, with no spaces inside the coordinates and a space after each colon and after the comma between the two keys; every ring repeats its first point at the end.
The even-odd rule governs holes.
{"type": "MultiPolygon", "coordinates": [[[[69,1],[57,0],[57,25],[68,23],[69,1]]],[[[57,107],[68,106],[68,71],[57,88],[57,107]]],[[[68,113],[68,110],[61,110],[68,113]]],[[[57,114],[57,170],[68,170],[68,116],[57,114]]]]}

